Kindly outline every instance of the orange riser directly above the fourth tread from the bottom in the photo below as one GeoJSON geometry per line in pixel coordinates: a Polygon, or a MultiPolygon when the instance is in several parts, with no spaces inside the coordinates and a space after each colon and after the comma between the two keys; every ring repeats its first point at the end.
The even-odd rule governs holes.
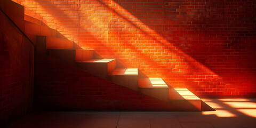
{"type": "Polygon", "coordinates": [[[76,50],[76,62],[93,59],[93,56],[94,56],[94,50],[83,50],[83,49],[76,50]]]}

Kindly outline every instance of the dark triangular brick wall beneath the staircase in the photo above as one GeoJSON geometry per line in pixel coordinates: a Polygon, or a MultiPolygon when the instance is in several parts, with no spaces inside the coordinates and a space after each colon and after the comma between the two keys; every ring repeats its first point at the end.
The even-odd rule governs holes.
{"type": "Polygon", "coordinates": [[[35,57],[35,110],[179,110],[51,57],[35,57]]]}

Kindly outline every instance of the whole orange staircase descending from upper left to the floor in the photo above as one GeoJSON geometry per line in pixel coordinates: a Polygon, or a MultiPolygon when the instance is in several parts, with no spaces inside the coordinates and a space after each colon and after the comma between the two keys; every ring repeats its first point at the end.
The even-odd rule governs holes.
{"type": "MultiPolygon", "coordinates": [[[[115,83],[115,86],[122,86],[125,90],[141,94],[143,97],[145,95],[145,97],[150,97],[159,101],[159,103],[169,106],[169,109],[165,110],[201,111],[201,99],[189,90],[174,89],[167,85],[162,78],[142,76],[138,68],[118,67],[116,59],[100,58],[93,50],[75,49],[74,47],[77,46],[75,46],[76,44],[73,41],[69,41],[58,33],[57,30],[49,28],[42,21],[25,15],[24,7],[17,3],[4,0],[0,7],[36,45],[36,58],[56,58],[58,61],[64,62],[65,65],[70,65],[77,70],[85,71],[97,78],[99,77],[103,79],[102,81],[115,83]]],[[[44,61],[47,62],[47,59],[44,61]]],[[[67,77],[68,75],[66,75],[67,77]]],[[[35,86],[37,86],[36,82],[35,86]]],[[[127,94],[118,93],[116,97],[123,97],[124,95],[127,94]]],[[[139,102],[141,103],[141,101],[139,102]]],[[[122,110],[122,105],[119,108],[122,110]]],[[[154,107],[151,110],[154,110],[154,107]]]]}

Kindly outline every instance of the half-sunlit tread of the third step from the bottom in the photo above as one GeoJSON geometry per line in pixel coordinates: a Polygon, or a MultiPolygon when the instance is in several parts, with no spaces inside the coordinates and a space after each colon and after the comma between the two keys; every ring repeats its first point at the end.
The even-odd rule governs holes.
{"type": "Polygon", "coordinates": [[[109,75],[111,76],[138,75],[138,68],[116,68],[109,75]]]}

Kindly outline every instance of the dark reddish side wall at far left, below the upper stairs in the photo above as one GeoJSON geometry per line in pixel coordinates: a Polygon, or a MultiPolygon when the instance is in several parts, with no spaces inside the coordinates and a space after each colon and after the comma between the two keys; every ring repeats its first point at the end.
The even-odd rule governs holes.
{"type": "Polygon", "coordinates": [[[0,11],[0,127],[33,105],[34,46],[0,11]]]}

